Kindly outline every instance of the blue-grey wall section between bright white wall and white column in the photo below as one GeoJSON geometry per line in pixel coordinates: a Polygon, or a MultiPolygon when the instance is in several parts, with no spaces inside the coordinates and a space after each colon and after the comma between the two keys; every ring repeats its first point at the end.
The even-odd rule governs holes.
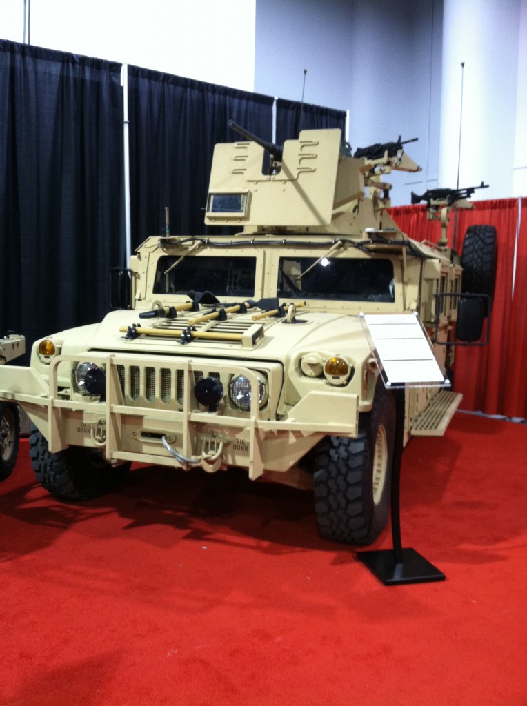
{"type": "Polygon", "coordinates": [[[439,186],[442,0],[257,0],[254,88],[349,109],[348,140],[418,137],[418,174],[393,173],[392,203],[439,186]]]}

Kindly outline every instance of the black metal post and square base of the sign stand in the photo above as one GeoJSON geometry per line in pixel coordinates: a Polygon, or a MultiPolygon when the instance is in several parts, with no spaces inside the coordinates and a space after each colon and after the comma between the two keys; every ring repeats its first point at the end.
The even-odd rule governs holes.
{"type": "Polygon", "coordinates": [[[396,388],[396,433],[391,475],[391,534],[392,549],[359,551],[357,558],[379,578],[385,586],[401,583],[442,581],[439,571],[415,549],[403,549],[401,543],[401,460],[404,445],[405,388],[396,388]]]}

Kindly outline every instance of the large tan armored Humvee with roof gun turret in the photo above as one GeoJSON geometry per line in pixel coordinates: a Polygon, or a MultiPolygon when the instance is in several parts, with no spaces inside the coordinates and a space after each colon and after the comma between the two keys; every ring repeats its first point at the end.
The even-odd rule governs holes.
{"type": "MultiPolygon", "coordinates": [[[[0,370],[0,398],[30,417],[32,466],[59,498],[100,495],[132,462],[238,467],[314,489],[323,537],[370,544],[396,409],[360,315],[418,312],[448,373],[462,268],[387,213],[386,175],[419,169],[400,138],[351,156],[338,129],[279,148],[232,127],[205,221],[236,234],[148,237],[114,272],[123,308],[35,342],[30,367],[0,370]]],[[[405,441],[442,434],[460,400],[409,387],[405,441]]]]}

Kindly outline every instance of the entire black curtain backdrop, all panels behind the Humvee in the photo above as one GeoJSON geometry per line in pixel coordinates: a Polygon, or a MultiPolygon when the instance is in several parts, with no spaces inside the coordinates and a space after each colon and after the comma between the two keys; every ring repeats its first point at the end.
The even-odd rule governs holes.
{"type": "MultiPolygon", "coordinates": [[[[28,342],[100,321],[123,265],[121,64],[0,40],[0,335],[28,342]]],[[[271,141],[273,98],[129,67],[132,245],[165,229],[207,234],[216,143],[271,141]]],[[[278,100],[277,139],[341,127],[345,113],[278,100]]],[[[27,362],[26,355],[23,362],[27,362]]],[[[20,362],[20,361],[19,361],[20,362]]]]}

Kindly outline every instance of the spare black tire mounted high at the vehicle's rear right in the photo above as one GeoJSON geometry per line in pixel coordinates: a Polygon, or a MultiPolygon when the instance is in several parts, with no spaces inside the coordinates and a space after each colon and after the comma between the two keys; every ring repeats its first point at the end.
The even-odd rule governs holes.
{"type": "MultiPolygon", "coordinates": [[[[497,234],[492,225],[472,225],[463,240],[461,291],[467,294],[487,294],[492,301],[496,286],[497,234]]],[[[489,302],[483,300],[488,315],[489,302]]]]}

